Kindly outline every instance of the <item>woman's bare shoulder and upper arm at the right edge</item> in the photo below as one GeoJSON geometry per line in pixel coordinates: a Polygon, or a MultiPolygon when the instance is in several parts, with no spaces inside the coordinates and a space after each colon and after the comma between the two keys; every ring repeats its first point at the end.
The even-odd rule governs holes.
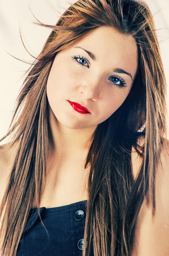
{"type": "Polygon", "coordinates": [[[156,167],[155,219],[152,219],[152,208],[141,206],[138,214],[135,243],[132,256],[166,256],[169,255],[169,140],[161,150],[161,162],[156,167]]]}

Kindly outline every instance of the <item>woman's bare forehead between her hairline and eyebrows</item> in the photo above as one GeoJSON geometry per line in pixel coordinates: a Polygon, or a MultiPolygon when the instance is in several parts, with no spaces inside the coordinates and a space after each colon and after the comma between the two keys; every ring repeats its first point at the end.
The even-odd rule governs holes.
{"type": "Polygon", "coordinates": [[[128,68],[133,76],[138,65],[138,47],[131,35],[124,35],[113,27],[102,26],[95,29],[90,35],[76,46],[84,47],[96,55],[96,61],[105,61],[105,64],[128,68]]]}

